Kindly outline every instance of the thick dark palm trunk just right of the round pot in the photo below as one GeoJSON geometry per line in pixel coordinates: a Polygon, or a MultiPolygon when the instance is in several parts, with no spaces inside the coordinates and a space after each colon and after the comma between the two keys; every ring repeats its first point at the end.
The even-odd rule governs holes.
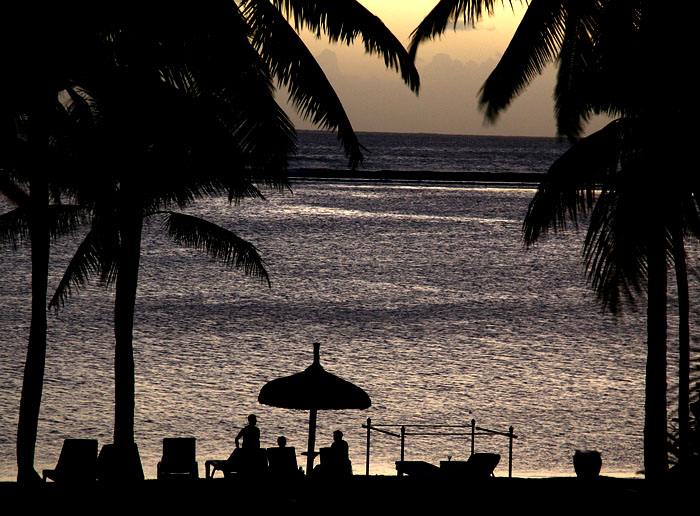
{"type": "Polygon", "coordinates": [[[648,254],[647,365],[644,412],[646,478],[661,480],[668,471],[666,451],[666,238],[663,224],[650,228],[648,254]]]}

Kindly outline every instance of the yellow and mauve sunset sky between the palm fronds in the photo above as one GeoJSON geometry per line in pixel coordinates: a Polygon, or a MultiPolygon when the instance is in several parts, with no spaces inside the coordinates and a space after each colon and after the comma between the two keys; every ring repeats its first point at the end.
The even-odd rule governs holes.
{"type": "MultiPolygon", "coordinates": [[[[409,35],[437,0],[360,0],[408,46],[409,35]]],[[[549,67],[501,116],[484,125],[477,93],[508,45],[524,8],[518,2],[497,9],[475,28],[449,28],[440,40],[419,48],[421,91],[416,97],[399,75],[361,44],[348,48],[305,34],[304,41],[323,67],[356,131],[555,136],[549,67]]],[[[313,129],[289,109],[299,129],[313,129]]],[[[598,124],[599,126],[600,124],[598,124]]]]}

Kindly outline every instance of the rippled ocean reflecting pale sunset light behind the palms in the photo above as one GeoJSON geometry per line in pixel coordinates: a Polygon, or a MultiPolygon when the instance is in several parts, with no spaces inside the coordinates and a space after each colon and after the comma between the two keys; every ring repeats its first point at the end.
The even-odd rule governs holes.
{"type": "MultiPolygon", "coordinates": [[[[370,151],[364,170],[537,172],[565,150],[547,138],[360,139],[370,151]]],[[[333,135],[301,132],[291,168],[341,171],[345,161],[333,135]]],[[[532,185],[351,176],[298,178],[291,191],[265,193],[264,201],[216,198],[189,211],[253,242],[270,287],[175,245],[158,220],[146,225],[134,352],[135,432],[148,478],[155,478],[162,439],[179,436],[196,437],[204,476],[204,461],[228,457],[250,413],[263,446],[285,435],[298,453],[305,450],[308,413],[260,405],[257,395],[269,380],[310,365],[314,342],[328,371],[372,399],[367,410],[318,415],[317,446],[341,429],[355,474],[366,468],[368,417],[376,425],[474,419],[500,432],[512,426],[515,476],[573,475],[575,449],[599,450],[606,475],[642,468],[643,307],[618,318],[602,313],[582,270],[582,231],[524,248],[532,185]]],[[[56,242],[51,286],[80,237],[56,242]]],[[[12,480],[30,315],[28,248],[0,250],[0,271],[0,480],[12,480]]],[[[672,281],[669,288],[674,302],[672,281]]],[[[39,471],[55,466],[65,438],[112,440],[113,295],[91,284],[49,316],[39,471]]],[[[672,403],[672,307],[669,315],[672,403]]],[[[694,308],[693,321],[697,315],[694,308]]],[[[437,465],[469,456],[465,435],[407,428],[406,460],[437,465]]],[[[506,438],[478,436],[475,449],[501,454],[495,474],[508,474],[506,438]]],[[[395,474],[399,453],[397,438],[373,433],[370,474],[395,474]]]]}

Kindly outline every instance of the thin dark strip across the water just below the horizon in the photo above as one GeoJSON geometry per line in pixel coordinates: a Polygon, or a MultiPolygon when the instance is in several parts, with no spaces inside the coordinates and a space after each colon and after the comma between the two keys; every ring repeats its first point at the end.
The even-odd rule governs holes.
{"type": "Polygon", "coordinates": [[[294,168],[290,179],[334,179],[343,181],[440,181],[537,185],[545,174],[532,172],[431,172],[417,170],[335,170],[294,168]]]}

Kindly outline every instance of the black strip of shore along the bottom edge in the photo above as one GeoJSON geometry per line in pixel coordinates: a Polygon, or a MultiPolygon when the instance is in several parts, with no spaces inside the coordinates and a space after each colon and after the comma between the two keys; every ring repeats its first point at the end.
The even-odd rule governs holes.
{"type": "MultiPolygon", "coordinates": [[[[696,486],[654,487],[642,479],[467,480],[356,475],[342,481],[146,480],[136,484],[21,487],[0,484],[3,509],[35,514],[659,514],[694,500],[696,486]],[[663,512],[657,512],[663,508],[663,512]],[[650,511],[651,509],[651,511],[650,511]],[[118,511],[118,512],[117,512],[118,511]]],[[[696,503],[696,502],[695,502],[696,503]]],[[[695,505],[693,505],[695,506],[695,505]]],[[[4,512],[4,511],[3,511],[4,512]]],[[[13,513],[18,512],[13,511],[13,513]]]]}

